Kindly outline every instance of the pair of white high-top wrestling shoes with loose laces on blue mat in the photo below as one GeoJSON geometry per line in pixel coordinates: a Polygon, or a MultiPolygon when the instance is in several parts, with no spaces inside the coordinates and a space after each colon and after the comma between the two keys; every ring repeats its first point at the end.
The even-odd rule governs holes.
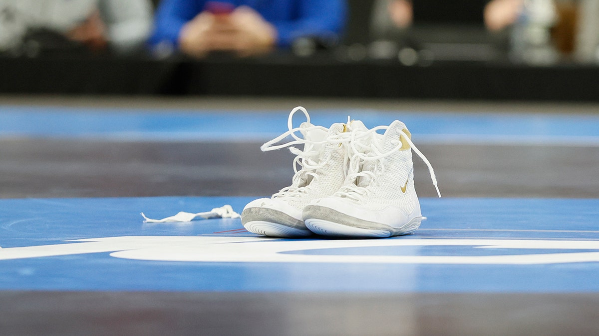
{"type": "Polygon", "coordinates": [[[289,114],[288,129],[261,149],[289,146],[296,155],[292,184],[271,198],[259,198],[244,207],[241,222],[247,231],[269,237],[412,233],[422,221],[412,150],[428,166],[441,197],[431,164],[412,143],[401,121],[367,129],[361,121],[348,120],[327,129],[311,124],[308,112],[298,106],[289,114]],[[297,111],[303,112],[307,121],[294,128],[292,118],[297,111]],[[276,145],[288,136],[294,140],[276,145]],[[300,144],[303,150],[292,146],[300,144]]]}

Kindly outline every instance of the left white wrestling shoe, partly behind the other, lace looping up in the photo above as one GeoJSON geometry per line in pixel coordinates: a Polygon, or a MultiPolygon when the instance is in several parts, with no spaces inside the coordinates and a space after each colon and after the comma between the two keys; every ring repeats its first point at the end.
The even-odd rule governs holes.
{"type": "MultiPolygon", "coordinates": [[[[354,132],[366,131],[360,121],[352,121],[354,132]]],[[[332,124],[329,129],[310,124],[308,112],[299,106],[291,111],[288,132],[262,145],[262,151],[303,144],[303,150],[290,147],[297,155],[294,159],[295,175],[292,184],[271,198],[259,198],[248,203],[241,212],[241,223],[247,231],[269,237],[305,237],[312,232],[304,225],[302,211],[311,200],[331,196],[346,179],[349,158],[347,143],[350,129],[347,124],[332,124]],[[307,122],[292,127],[292,117],[304,112],[307,122]],[[303,138],[295,135],[301,132],[303,138]],[[291,135],[295,140],[282,145],[274,143],[291,135]],[[298,169],[299,168],[299,169],[298,169]]]]}

